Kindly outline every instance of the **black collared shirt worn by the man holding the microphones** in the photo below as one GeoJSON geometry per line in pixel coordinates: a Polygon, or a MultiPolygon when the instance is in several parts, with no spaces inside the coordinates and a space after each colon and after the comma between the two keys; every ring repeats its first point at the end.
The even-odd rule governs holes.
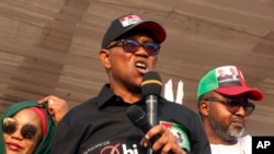
{"type": "MultiPolygon", "coordinates": [[[[135,105],[146,110],[140,100],[135,105]]],[[[126,116],[130,104],[114,95],[106,84],[98,97],[72,108],[57,127],[52,154],[146,154],[142,131],[126,116]]],[[[210,154],[198,115],[164,98],[158,100],[158,120],[170,128],[180,145],[193,154],[210,154]]]]}

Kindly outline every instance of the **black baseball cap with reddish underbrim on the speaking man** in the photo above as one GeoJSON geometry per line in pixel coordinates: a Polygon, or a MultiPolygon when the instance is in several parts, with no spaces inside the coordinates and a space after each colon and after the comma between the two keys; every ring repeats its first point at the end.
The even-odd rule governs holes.
{"type": "Polygon", "coordinates": [[[151,20],[142,20],[136,14],[127,14],[112,22],[103,37],[102,48],[106,48],[112,40],[115,40],[123,34],[138,28],[148,32],[158,44],[161,44],[167,37],[164,28],[159,23],[151,20]]]}

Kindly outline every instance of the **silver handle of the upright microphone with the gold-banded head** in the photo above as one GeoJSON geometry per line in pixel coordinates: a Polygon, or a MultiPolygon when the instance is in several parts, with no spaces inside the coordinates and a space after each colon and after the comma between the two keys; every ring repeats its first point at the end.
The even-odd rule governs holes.
{"type": "MultiPolygon", "coordinates": [[[[146,97],[146,104],[147,104],[147,119],[151,127],[158,125],[158,118],[157,118],[157,105],[158,99],[155,95],[148,95],[146,97]]],[[[151,139],[150,143],[155,143],[155,141],[158,139],[158,137],[151,139]]],[[[152,149],[149,147],[147,151],[147,154],[152,154],[152,149]]]]}

